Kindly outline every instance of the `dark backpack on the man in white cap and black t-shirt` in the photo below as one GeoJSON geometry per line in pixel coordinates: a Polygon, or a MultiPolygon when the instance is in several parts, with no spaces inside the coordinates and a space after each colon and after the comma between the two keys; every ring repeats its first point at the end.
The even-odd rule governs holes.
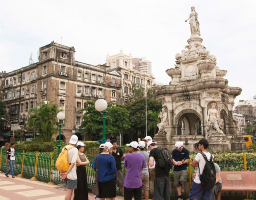
{"type": "Polygon", "coordinates": [[[169,149],[161,147],[157,148],[157,160],[156,165],[165,168],[166,170],[170,170],[173,167],[173,161],[171,158],[171,153],[169,149]]]}

